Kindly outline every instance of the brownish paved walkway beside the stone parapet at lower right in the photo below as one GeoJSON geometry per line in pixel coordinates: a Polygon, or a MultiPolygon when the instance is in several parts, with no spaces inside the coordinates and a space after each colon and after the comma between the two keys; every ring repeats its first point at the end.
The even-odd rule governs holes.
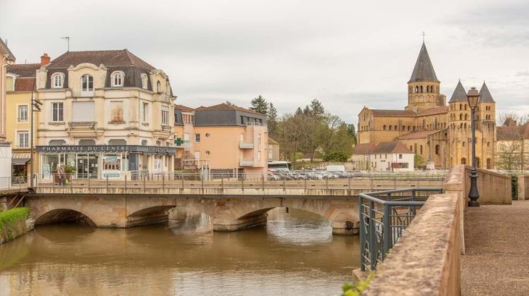
{"type": "Polygon", "coordinates": [[[468,208],[462,295],[529,295],[529,201],[468,208]]]}

